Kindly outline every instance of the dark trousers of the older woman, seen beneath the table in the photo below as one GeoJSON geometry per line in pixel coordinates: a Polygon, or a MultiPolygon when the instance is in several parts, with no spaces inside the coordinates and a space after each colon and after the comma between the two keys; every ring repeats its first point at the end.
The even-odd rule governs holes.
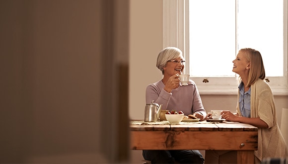
{"type": "Polygon", "coordinates": [[[144,150],[143,157],[152,164],[204,164],[198,150],[144,150]]]}

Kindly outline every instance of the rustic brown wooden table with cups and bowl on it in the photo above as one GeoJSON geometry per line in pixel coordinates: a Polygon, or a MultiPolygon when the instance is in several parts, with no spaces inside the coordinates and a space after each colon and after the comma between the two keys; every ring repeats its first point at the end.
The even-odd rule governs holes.
{"type": "Polygon", "coordinates": [[[237,122],[177,125],[130,124],[132,150],[234,150],[238,164],[253,164],[257,128],[237,122]]]}

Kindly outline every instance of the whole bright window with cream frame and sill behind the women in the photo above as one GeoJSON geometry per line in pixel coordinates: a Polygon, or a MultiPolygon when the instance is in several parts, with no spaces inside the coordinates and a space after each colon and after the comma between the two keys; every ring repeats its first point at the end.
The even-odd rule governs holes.
{"type": "Polygon", "coordinates": [[[183,51],[185,72],[201,94],[236,94],[232,60],[239,49],[254,48],[262,54],[274,94],[288,95],[287,5],[286,0],[163,0],[163,47],[183,51]]]}

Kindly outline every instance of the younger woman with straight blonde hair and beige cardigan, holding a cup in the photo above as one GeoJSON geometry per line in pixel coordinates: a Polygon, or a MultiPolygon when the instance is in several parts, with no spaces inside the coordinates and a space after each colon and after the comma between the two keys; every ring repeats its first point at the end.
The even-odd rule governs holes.
{"type": "MultiPolygon", "coordinates": [[[[251,48],[241,49],[233,60],[232,71],[240,77],[236,113],[223,111],[222,118],[258,127],[255,163],[267,158],[288,157],[288,148],[277,123],[273,93],[269,84],[263,81],[265,69],[260,52],[251,48]]],[[[233,152],[207,151],[205,163],[235,163],[227,161],[232,156],[233,152]]]]}

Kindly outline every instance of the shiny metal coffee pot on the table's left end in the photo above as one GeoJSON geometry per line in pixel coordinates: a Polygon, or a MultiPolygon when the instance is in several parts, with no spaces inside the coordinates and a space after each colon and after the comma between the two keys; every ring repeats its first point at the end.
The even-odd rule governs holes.
{"type": "Polygon", "coordinates": [[[159,121],[162,104],[153,102],[145,106],[144,122],[159,121]]]}

